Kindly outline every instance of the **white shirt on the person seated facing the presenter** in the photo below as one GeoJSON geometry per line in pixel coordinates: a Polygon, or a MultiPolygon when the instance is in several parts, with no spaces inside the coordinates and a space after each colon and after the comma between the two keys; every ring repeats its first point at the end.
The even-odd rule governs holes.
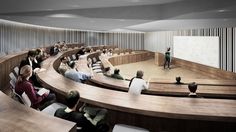
{"type": "Polygon", "coordinates": [[[128,93],[140,95],[144,89],[148,89],[148,84],[146,81],[140,78],[134,78],[130,84],[128,93]]]}

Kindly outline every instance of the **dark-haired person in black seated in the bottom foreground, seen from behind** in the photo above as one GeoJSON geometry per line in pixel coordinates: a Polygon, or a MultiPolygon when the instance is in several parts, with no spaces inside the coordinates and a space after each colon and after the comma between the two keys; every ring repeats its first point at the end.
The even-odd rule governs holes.
{"type": "Polygon", "coordinates": [[[83,107],[82,112],[76,111],[79,104],[80,94],[78,91],[70,91],[67,94],[66,108],[56,110],[54,116],[77,123],[82,132],[107,132],[109,127],[104,123],[107,110],[92,107],[83,107]]]}

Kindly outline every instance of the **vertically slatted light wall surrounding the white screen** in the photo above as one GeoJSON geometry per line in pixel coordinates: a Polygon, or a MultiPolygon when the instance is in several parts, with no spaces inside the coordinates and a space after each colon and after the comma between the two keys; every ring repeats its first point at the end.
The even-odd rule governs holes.
{"type": "Polygon", "coordinates": [[[236,27],[148,32],[144,36],[144,49],[164,53],[167,47],[173,49],[174,36],[219,36],[219,66],[223,70],[236,72],[236,27]]]}

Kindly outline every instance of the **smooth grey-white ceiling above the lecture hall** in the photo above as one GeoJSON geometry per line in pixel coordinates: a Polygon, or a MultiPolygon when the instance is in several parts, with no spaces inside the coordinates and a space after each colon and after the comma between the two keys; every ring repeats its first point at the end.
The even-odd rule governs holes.
{"type": "Polygon", "coordinates": [[[236,0],[7,0],[0,19],[98,31],[235,27],[236,0]]]}

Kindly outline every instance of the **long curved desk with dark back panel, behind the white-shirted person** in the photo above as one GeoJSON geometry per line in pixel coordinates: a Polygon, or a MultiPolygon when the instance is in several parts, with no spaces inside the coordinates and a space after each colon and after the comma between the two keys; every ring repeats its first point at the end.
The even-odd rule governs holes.
{"type": "MultiPolygon", "coordinates": [[[[171,126],[176,126],[174,131],[192,130],[193,128],[193,131],[215,130],[214,127],[220,128],[219,130],[235,129],[233,125],[236,122],[235,100],[152,95],[131,96],[126,92],[77,83],[63,77],[53,68],[54,62],[57,62],[62,55],[65,56],[65,54],[58,54],[43,62],[43,67],[47,70],[38,74],[38,78],[43,84],[50,86],[53,91],[61,95],[65,95],[71,89],[76,89],[81,94],[81,101],[110,109],[111,113],[115,113],[111,116],[122,116],[122,120],[126,123],[145,124],[144,128],[151,131],[173,130],[171,126]],[[128,113],[132,116],[127,116],[128,113]],[[131,118],[137,118],[137,120],[142,118],[142,120],[136,122],[137,120],[134,121],[131,118]],[[165,123],[161,123],[161,121],[165,123]],[[177,127],[179,122],[184,125],[177,127]],[[193,122],[194,126],[191,125],[193,122]]],[[[113,120],[120,118],[113,118],[113,120]]]]}

